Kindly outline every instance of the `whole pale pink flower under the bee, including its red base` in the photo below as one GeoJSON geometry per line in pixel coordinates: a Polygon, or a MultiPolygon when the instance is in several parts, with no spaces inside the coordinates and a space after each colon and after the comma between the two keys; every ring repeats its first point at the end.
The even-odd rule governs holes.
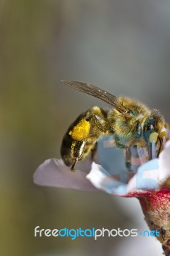
{"type": "MultiPolygon", "coordinates": [[[[105,147],[106,144],[105,141],[99,143],[100,163],[105,159],[101,145],[105,147]]],[[[109,148],[108,145],[106,148],[109,148]]],[[[139,151],[139,148],[137,150],[139,151]]],[[[114,153],[116,163],[124,163],[118,148],[114,153]]],[[[108,161],[100,165],[97,163],[98,156],[95,156],[93,162],[88,159],[84,163],[78,163],[76,173],[70,172],[70,168],[65,166],[62,160],[48,159],[37,168],[33,177],[34,182],[42,186],[105,191],[112,195],[137,197],[148,226],[151,230],[158,230],[158,240],[162,243],[166,256],[170,255],[170,141],[164,141],[164,150],[158,159],[147,162],[142,159],[143,164],[139,164],[137,171],[134,168],[132,172],[127,172],[121,164],[113,168],[116,163],[109,166],[108,161]],[[116,172],[112,173],[112,169],[116,172]]],[[[106,159],[107,157],[110,157],[108,152],[106,159]]],[[[135,160],[141,161],[140,158],[135,160]]],[[[115,159],[112,160],[115,162],[115,159]]]]}

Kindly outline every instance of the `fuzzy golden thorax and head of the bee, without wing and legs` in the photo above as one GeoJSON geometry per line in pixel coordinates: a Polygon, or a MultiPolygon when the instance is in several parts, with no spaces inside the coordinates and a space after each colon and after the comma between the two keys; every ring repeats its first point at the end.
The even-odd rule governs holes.
{"type": "Polygon", "coordinates": [[[110,124],[121,138],[140,138],[143,131],[149,131],[146,134],[150,136],[151,132],[160,132],[162,129],[163,117],[157,110],[151,111],[143,103],[127,97],[119,97],[116,104],[122,111],[112,109],[110,124]]]}

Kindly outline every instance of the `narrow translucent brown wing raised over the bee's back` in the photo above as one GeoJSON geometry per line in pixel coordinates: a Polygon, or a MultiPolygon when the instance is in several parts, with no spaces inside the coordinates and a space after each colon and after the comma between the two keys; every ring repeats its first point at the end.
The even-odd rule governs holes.
{"type": "Polygon", "coordinates": [[[65,81],[61,80],[62,83],[72,87],[73,89],[79,90],[81,92],[87,93],[94,97],[97,97],[100,100],[104,100],[114,108],[120,109],[120,111],[125,111],[122,107],[116,104],[116,96],[112,95],[109,92],[105,92],[101,88],[93,85],[93,84],[86,84],[78,81],[65,81]]]}

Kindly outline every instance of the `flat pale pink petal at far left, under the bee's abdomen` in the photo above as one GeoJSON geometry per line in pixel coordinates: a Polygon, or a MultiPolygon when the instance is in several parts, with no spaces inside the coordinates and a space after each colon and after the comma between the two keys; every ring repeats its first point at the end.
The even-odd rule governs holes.
{"type": "MultiPolygon", "coordinates": [[[[87,162],[88,168],[90,166],[87,162]]],[[[86,163],[82,164],[86,169],[86,163]]],[[[79,164],[81,167],[81,164],[79,164]]],[[[62,160],[48,159],[41,164],[33,175],[35,184],[42,186],[52,186],[59,188],[72,188],[82,191],[98,191],[88,179],[86,173],[77,170],[75,173],[70,172],[62,160]]]]}

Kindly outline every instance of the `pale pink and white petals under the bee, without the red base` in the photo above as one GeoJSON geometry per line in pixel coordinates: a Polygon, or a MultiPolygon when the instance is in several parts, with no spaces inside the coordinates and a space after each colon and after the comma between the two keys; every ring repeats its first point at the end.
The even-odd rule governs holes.
{"type": "MultiPolygon", "coordinates": [[[[118,153],[116,152],[116,154],[118,153]]],[[[82,191],[105,191],[125,197],[142,196],[149,191],[159,191],[162,184],[167,184],[165,181],[170,176],[169,156],[170,141],[167,141],[158,159],[155,158],[142,164],[137,172],[127,172],[125,168],[121,168],[121,172],[116,170],[116,173],[108,172],[100,164],[97,164],[97,157],[95,161],[88,159],[85,162],[79,162],[76,166],[76,173],[70,172],[70,168],[61,159],[47,159],[37,168],[33,179],[35,184],[41,186],[72,188],[82,191]]],[[[123,162],[122,159],[118,159],[118,161],[123,162]]]]}

